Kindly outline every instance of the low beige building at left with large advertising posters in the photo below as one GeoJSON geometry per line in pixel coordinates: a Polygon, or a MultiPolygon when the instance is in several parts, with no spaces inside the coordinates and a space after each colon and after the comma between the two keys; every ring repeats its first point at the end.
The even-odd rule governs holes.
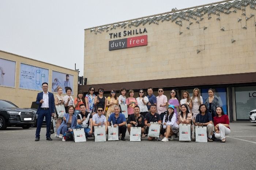
{"type": "MultiPolygon", "coordinates": [[[[57,86],[71,86],[74,98],[78,89],[78,72],[35,59],[0,51],[1,100],[8,100],[20,108],[30,108],[42,92],[42,83],[57,94],[57,86]]],[[[63,90],[63,96],[65,95],[63,90]]]]}

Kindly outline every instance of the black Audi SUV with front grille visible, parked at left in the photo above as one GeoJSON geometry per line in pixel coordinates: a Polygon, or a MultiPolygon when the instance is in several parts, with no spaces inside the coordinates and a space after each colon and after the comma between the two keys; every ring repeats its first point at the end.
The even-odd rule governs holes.
{"type": "Polygon", "coordinates": [[[7,126],[30,128],[35,123],[35,114],[29,109],[19,108],[7,100],[0,100],[0,130],[7,126]]]}

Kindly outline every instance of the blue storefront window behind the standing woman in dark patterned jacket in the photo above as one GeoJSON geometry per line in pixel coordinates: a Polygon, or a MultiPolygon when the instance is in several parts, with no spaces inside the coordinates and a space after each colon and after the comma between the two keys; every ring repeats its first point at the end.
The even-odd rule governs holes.
{"type": "MultiPolygon", "coordinates": [[[[214,97],[217,97],[219,100],[219,106],[223,108],[224,113],[227,115],[227,92],[226,88],[212,88],[214,92],[214,97]]],[[[209,97],[207,89],[202,89],[201,95],[203,97],[203,101],[205,101],[206,97],[209,97]]]]}

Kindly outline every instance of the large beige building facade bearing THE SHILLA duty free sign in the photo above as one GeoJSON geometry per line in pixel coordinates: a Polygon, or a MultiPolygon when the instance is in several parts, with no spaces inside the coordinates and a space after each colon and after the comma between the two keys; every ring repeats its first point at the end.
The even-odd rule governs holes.
{"type": "MultiPolygon", "coordinates": [[[[221,1],[84,31],[79,90],[216,90],[230,121],[256,108],[256,1],[221,1]],[[254,96],[253,96],[254,95],[254,96]]],[[[157,93],[155,94],[157,95],[157,93]]]]}

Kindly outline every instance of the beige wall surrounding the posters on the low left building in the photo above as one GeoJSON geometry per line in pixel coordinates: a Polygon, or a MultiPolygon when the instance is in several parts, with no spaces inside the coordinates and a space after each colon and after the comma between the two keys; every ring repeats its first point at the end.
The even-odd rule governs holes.
{"type": "MultiPolygon", "coordinates": [[[[12,103],[16,104],[18,107],[21,107],[21,108],[30,108],[32,101],[35,101],[37,98],[37,93],[42,92],[42,90],[39,91],[39,90],[28,90],[28,89],[19,88],[20,63],[25,63],[27,65],[48,69],[49,70],[49,83],[48,83],[49,92],[51,92],[51,89],[52,89],[52,71],[74,75],[73,98],[75,98],[77,95],[78,72],[76,72],[75,70],[67,69],[64,67],[52,65],[49,63],[37,61],[31,58],[26,58],[26,57],[22,57],[22,56],[11,54],[11,53],[6,53],[4,51],[0,51],[0,58],[8,59],[16,62],[15,87],[12,88],[12,87],[0,86],[0,92],[1,92],[0,99],[2,100],[11,101],[12,103]]],[[[54,92],[53,94],[55,96],[57,93],[54,92]]]]}

